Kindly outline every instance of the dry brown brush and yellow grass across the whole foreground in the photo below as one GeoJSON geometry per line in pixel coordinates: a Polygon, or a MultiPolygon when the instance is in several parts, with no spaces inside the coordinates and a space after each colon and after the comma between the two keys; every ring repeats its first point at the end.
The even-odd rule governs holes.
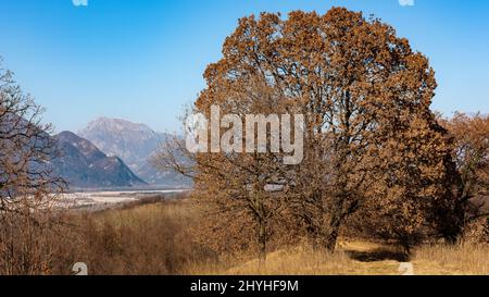
{"type": "Polygon", "coordinates": [[[192,238],[201,219],[187,200],[74,214],[77,227],[51,240],[63,250],[46,273],[86,262],[90,274],[398,275],[411,261],[415,274],[489,274],[489,246],[468,244],[425,246],[408,259],[392,246],[341,238],[333,255],[300,244],[269,252],[264,265],[251,255],[218,259],[192,238]]]}

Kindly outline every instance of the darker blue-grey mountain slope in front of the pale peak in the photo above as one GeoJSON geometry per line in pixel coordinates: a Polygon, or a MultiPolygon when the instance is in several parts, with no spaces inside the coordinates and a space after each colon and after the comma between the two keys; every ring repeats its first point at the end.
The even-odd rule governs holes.
{"type": "Polygon", "coordinates": [[[129,187],[146,183],[117,157],[108,157],[89,140],[72,132],[54,136],[61,156],[52,161],[54,173],[74,187],[129,187]]]}

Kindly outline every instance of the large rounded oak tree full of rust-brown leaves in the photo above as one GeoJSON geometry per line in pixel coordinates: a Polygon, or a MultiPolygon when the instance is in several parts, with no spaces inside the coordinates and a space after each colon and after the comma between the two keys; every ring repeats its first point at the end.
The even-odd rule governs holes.
{"type": "MultiPolygon", "coordinates": [[[[452,199],[443,185],[451,148],[429,109],[435,72],[381,21],[341,8],[324,15],[243,17],[204,78],[199,112],[209,114],[217,104],[238,114],[303,114],[304,159],[280,166],[272,156],[265,158],[268,165],[256,166],[248,157],[253,161],[229,168],[229,156],[196,158],[196,176],[205,176],[196,180],[197,188],[230,189],[246,172],[260,177],[260,191],[266,183],[285,184],[288,213],[329,250],[344,220],[361,208],[392,216],[386,232],[409,246],[419,227],[434,224],[434,206],[450,205],[443,202],[452,199]],[[265,92],[250,92],[256,82],[266,85],[265,92]]],[[[249,183],[238,183],[244,197],[252,193],[249,183]]],[[[223,205],[237,201],[225,193],[214,197],[223,205]]]]}

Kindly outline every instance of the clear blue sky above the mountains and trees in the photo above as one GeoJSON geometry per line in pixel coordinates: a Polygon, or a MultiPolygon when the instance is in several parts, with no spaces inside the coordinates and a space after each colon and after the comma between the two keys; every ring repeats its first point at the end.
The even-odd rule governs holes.
{"type": "Polygon", "coordinates": [[[0,55],[57,131],[101,115],[173,131],[239,17],[341,5],[383,18],[429,57],[434,109],[489,112],[489,1],[414,1],[1,0],[0,55]]]}

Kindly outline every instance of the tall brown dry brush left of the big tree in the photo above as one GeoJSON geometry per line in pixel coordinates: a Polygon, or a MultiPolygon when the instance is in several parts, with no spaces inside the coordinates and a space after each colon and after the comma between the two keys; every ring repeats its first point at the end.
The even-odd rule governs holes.
{"type": "Polygon", "coordinates": [[[196,215],[187,201],[133,205],[75,214],[72,238],[55,273],[85,262],[90,274],[177,274],[197,259],[212,257],[189,234],[196,215]]]}

